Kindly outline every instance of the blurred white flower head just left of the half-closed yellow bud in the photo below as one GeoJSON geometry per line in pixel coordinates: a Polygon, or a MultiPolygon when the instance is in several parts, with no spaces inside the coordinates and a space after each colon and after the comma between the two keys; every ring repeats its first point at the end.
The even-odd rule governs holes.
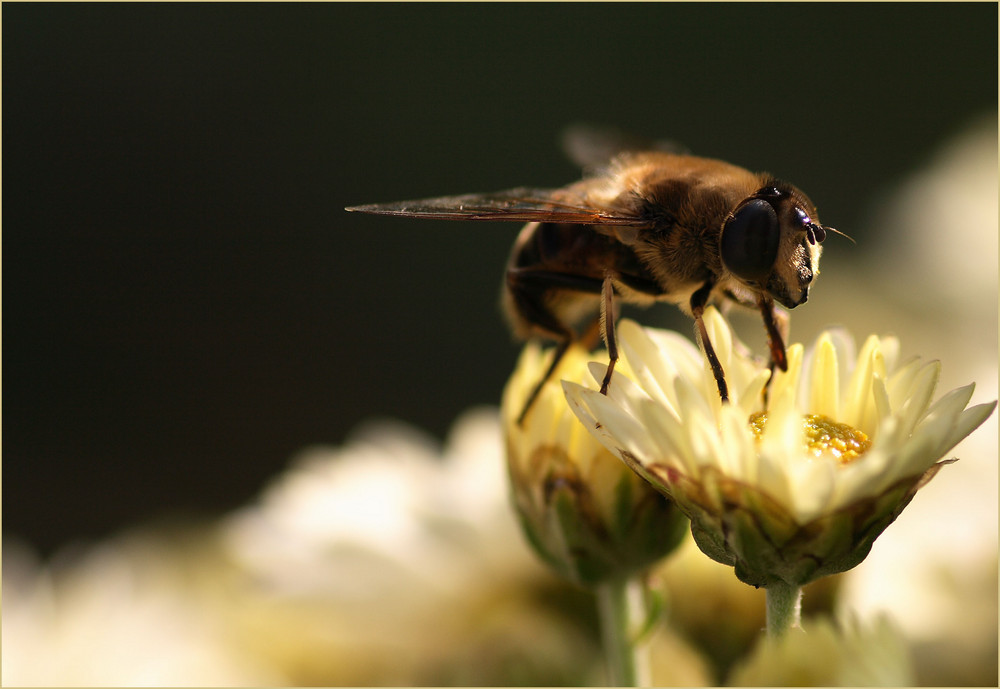
{"type": "Polygon", "coordinates": [[[302,453],[228,520],[227,540],[276,592],[361,595],[375,587],[359,573],[402,572],[427,595],[450,593],[533,562],[519,547],[505,481],[494,410],[459,420],[443,456],[409,426],[370,424],[343,449],[302,453]],[[504,542],[508,551],[492,547],[504,542]]]}

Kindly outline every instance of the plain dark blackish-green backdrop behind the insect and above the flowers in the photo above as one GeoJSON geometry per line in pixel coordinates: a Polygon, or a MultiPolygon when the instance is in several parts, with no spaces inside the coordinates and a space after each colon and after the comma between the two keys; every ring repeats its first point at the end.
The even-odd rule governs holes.
{"type": "Polygon", "coordinates": [[[863,252],[878,195],[995,110],[996,27],[994,3],[5,4],[5,533],[225,509],[365,418],[440,435],[495,403],[516,227],[342,208],[569,182],[571,122],[785,177],[863,252]]]}

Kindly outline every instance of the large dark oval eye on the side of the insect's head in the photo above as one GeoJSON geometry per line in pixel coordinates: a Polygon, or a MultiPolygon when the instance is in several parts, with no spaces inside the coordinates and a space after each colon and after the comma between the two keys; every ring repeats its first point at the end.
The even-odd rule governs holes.
{"type": "Polygon", "coordinates": [[[722,262],[738,277],[761,283],[774,267],[780,238],[774,207],[761,199],[747,201],[722,228],[722,262]]]}

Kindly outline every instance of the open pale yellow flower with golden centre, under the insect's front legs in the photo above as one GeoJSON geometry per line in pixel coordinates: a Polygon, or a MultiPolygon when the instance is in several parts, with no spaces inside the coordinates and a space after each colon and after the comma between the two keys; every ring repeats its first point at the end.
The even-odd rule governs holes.
{"type": "MultiPolygon", "coordinates": [[[[590,432],[677,501],[699,547],[756,586],[854,567],[996,406],[966,409],[971,385],[932,404],[936,362],[900,363],[898,342],[875,336],[855,356],[849,338],[826,332],[808,355],[788,348],[765,421],[755,415],[767,369],[717,311],[705,321],[729,404],[693,344],[629,321],[619,333],[631,379],[616,371],[607,396],[564,385],[590,432]]],[[[591,368],[600,380],[604,365],[591,368]]]]}

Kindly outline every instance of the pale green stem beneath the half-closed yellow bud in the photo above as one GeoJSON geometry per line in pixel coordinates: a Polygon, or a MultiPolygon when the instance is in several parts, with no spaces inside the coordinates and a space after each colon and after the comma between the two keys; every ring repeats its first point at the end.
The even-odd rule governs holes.
{"type": "Polygon", "coordinates": [[[649,684],[649,654],[639,633],[646,621],[645,591],[639,579],[613,579],[595,589],[609,686],[649,684]]]}

